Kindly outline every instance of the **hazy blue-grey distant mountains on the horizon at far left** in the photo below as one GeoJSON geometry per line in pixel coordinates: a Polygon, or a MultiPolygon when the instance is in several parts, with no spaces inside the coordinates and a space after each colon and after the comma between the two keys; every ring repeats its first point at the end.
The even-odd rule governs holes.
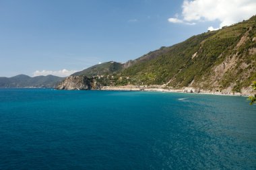
{"type": "Polygon", "coordinates": [[[53,75],[29,77],[28,75],[16,75],[14,77],[0,77],[0,87],[55,87],[57,83],[65,79],[53,75]]]}

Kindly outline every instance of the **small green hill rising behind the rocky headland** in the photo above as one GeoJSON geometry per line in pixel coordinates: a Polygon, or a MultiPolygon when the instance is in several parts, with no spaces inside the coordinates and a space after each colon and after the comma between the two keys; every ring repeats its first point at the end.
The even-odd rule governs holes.
{"type": "Polygon", "coordinates": [[[83,71],[79,71],[77,73],[73,73],[73,75],[85,75],[87,77],[96,77],[100,75],[111,75],[121,71],[123,69],[123,65],[120,62],[109,61],[103,62],[99,65],[94,65],[89,67],[88,69],[84,69],[83,71]]]}

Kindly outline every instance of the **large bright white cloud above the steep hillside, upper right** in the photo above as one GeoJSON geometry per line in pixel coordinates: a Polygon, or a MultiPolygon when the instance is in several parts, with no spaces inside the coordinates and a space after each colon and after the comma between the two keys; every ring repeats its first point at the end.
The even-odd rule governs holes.
{"type": "MultiPolygon", "coordinates": [[[[220,26],[230,26],[236,22],[241,22],[243,19],[256,14],[256,1],[255,0],[193,0],[183,1],[182,5],[183,19],[177,19],[179,23],[193,24],[195,22],[213,22],[219,21],[220,26]],[[192,22],[192,23],[191,23],[192,22]]],[[[176,16],[179,16],[175,14],[176,16]]],[[[169,21],[168,19],[168,21],[169,21]]],[[[170,22],[170,21],[169,21],[170,22]]],[[[174,23],[174,22],[172,22],[174,23]]],[[[178,23],[178,22],[176,22],[178,23]]],[[[219,28],[209,29],[216,30],[219,28]]]]}

